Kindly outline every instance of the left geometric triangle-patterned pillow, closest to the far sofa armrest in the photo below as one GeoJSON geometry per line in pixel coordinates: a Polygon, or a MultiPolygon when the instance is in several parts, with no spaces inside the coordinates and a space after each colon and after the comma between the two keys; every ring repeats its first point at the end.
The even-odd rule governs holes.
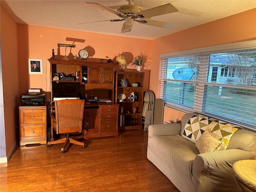
{"type": "Polygon", "coordinates": [[[196,143],[198,138],[200,138],[208,128],[208,117],[201,114],[195,114],[190,117],[186,123],[182,137],[196,143]]]}

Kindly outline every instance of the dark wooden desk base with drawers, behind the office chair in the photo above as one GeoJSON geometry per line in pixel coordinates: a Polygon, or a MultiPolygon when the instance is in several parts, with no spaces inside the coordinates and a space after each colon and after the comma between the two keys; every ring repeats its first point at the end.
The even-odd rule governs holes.
{"type": "MultiPolygon", "coordinates": [[[[118,136],[118,108],[116,102],[85,103],[82,128],[84,139],[118,136]]],[[[50,104],[50,109],[54,112],[54,104],[50,104]]],[[[51,127],[51,141],[53,140],[51,127]]]]}

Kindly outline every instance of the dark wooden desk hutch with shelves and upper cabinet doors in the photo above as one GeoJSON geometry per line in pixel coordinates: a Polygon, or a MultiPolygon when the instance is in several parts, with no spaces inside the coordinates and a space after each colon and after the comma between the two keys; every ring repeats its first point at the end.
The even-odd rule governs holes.
{"type": "Polygon", "coordinates": [[[88,95],[88,99],[97,96],[102,99],[114,100],[114,70],[116,64],[94,63],[84,61],[66,61],[50,59],[50,79],[51,79],[51,100],[62,94],[64,97],[68,91],[79,90],[80,94],[88,95]],[[73,74],[79,73],[78,80],[54,80],[54,74],[65,72],[73,74]],[[70,85],[71,84],[71,85],[70,85]],[[79,88],[77,88],[79,87],[79,88]],[[66,91],[66,90],[67,91],[66,91]],[[73,90],[72,90],[73,89],[73,90]],[[59,92],[56,92],[59,90],[59,92]]]}

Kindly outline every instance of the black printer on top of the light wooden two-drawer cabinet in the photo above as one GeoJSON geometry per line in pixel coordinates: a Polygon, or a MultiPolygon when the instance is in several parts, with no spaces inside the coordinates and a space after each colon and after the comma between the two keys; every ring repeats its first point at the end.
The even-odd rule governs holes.
{"type": "Polygon", "coordinates": [[[39,105],[44,104],[45,94],[41,93],[40,90],[33,92],[28,90],[27,93],[22,93],[20,95],[20,101],[22,105],[39,105]]]}

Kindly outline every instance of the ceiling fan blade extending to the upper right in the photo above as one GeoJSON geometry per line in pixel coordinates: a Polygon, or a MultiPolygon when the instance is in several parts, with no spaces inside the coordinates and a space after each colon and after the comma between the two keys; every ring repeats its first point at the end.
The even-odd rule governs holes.
{"type": "Polygon", "coordinates": [[[161,5],[158,7],[154,7],[154,8],[144,10],[144,11],[137,12],[137,13],[135,13],[135,16],[144,15],[144,18],[150,18],[150,17],[164,15],[164,14],[173,13],[173,12],[177,12],[177,11],[179,11],[179,10],[176,9],[172,4],[168,3],[165,5],[161,5]]]}

